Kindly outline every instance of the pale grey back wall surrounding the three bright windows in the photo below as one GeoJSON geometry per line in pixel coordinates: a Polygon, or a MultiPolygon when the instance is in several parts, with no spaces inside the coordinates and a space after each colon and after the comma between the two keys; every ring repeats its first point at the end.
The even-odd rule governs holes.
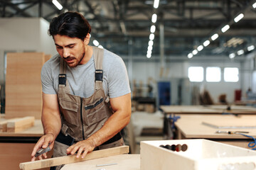
{"type": "MultiPolygon", "coordinates": [[[[204,80],[200,83],[190,83],[191,89],[193,86],[197,86],[199,90],[207,89],[210,92],[210,96],[213,98],[215,103],[218,102],[218,96],[220,94],[226,94],[226,99],[229,103],[232,103],[235,99],[235,90],[242,90],[242,97],[245,97],[245,93],[249,86],[251,85],[252,68],[251,59],[245,60],[211,60],[190,62],[189,60],[183,61],[171,61],[165,63],[164,74],[160,77],[161,73],[161,63],[154,60],[144,60],[144,61],[133,61],[132,67],[129,67],[129,62],[127,57],[123,57],[124,62],[127,65],[129,74],[130,84],[133,90],[133,80],[135,79],[137,84],[142,82],[144,84],[144,96],[146,96],[146,84],[149,77],[153,78],[154,84],[154,96],[157,96],[157,81],[172,81],[175,79],[188,79],[188,67],[203,67],[204,69],[204,80]],[[206,67],[220,67],[221,69],[221,81],[220,82],[207,82],[206,81],[206,67]],[[238,67],[240,70],[240,79],[238,82],[225,82],[223,73],[225,67],[238,67]],[[129,70],[132,69],[132,72],[129,70]]],[[[173,103],[173,102],[172,102],[173,103]]]]}

